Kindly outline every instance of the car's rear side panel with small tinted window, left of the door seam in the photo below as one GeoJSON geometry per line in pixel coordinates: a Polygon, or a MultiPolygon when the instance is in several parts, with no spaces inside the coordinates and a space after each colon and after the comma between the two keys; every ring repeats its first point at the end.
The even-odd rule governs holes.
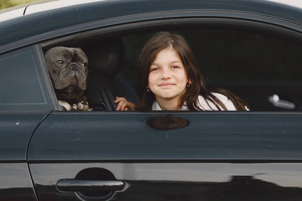
{"type": "Polygon", "coordinates": [[[50,102],[32,47],[3,53],[0,63],[0,200],[34,201],[27,145],[50,102]]]}

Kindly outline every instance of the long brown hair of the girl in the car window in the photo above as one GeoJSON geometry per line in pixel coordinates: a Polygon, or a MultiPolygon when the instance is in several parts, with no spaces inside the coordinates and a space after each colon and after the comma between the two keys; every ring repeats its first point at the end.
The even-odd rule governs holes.
{"type": "Polygon", "coordinates": [[[238,111],[246,111],[245,106],[248,107],[248,105],[241,98],[232,94],[230,91],[224,89],[214,89],[209,91],[205,87],[204,78],[202,77],[198,68],[196,68],[193,51],[191,50],[189,44],[180,35],[171,34],[169,32],[159,32],[155,34],[142,48],[138,67],[137,93],[139,100],[136,110],[152,110],[155,94],[152,91],[146,91],[150,66],[161,50],[171,47],[180,57],[181,62],[185,67],[188,80],[192,81],[191,86],[186,87],[184,94],[180,97],[178,110],[185,104],[185,102],[189,110],[204,110],[203,108],[199,108],[198,95],[202,95],[204,97],[207,105],[210,108],[211,106],[209,105],[209,102],[211,102],[217,108],[217,110],[221,111],[220,108],[227,110],[224,104],[212,94],[212,92],[215,92],[230,98],[238,111]]]}

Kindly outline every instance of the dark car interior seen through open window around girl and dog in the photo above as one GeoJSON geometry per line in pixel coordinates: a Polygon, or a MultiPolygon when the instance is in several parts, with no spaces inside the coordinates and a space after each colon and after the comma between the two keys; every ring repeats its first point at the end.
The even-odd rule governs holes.
{"type": "Polygon", "coordinates": [[[169,31],[188,41],[207,88],[231,91],[251,111],[302,110],[302,40],[277,28],[259,27],[216,23],[99,29],[47,41],[41,51],[55,46],[82,48],[89,61],[90,107],[115,111],[116,96],[137,104],[141,48],[152,34],[169,31]]]}

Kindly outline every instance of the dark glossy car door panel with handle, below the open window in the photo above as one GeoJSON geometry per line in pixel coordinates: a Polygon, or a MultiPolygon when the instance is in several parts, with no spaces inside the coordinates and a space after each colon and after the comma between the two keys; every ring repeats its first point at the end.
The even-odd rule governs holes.
{"type": "Polygon", "coordinates": [[[54,112],[31,140],[45,200],[302,198],[301,114],[54,112]]]}

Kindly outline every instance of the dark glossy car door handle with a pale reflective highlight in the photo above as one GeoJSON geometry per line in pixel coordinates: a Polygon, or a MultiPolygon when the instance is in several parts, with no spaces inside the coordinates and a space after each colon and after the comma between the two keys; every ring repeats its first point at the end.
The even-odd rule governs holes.
{"type": "Polygon", "coordinates": [[[62,192],[81,192],[86,190],[117,191],[122,190],[125,183],[121,180],[77,180],[61,179],[57,182],[57,189],[62,192]]]}

